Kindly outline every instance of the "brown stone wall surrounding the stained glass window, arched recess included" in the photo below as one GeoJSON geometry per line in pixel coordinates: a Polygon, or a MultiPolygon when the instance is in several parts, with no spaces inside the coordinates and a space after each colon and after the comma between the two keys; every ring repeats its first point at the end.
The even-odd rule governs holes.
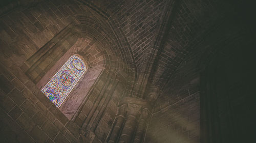
{"type": "MultiPolygon", "coordinates": [[[[120,62],[119,54],[126,54],[115,48],[112,29],[92,27],[100,27],[100,22],[88,17],[86,23],[74,17],[87,10],[69,1],[46,1],[2,15],[1,139],[5,142],[105,141],[133,67],[120,62]],[[80,22],[82,26],[77,26],[80,22]],[[76,87],[83,90],[73,91],[79,103],[68,116],[73,108],[57,109],[39,90],[73,53],[84,58],[89,71],[87,80],[76,87]]],[[[67,106],[75,100],[68,98],[67,106]]]]}

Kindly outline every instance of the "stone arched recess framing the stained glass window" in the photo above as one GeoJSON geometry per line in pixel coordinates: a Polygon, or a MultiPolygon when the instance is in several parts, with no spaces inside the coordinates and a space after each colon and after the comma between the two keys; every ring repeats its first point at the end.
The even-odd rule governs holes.
{"type": "MultiPolygon", "coordinates": [[[[40,89],[44,82],[49,81],[50,75],[54,74],[59,66],[67,60],[68,56],[80,55],[89,67],[83,79],[87,78],[91,83],[85,86],[86,88],[83,87],[81,96],[77,94],[77,90],[74,90],[73,94],[77,94],[77,99],[80,101],[69,96],[60,107],[60,111],[80,127],[87,128],[86,126],[89,125],[88,128],[97,129],[95,123],[98,123],[103,115],[100,113],[97,120],[91,120],[95,114],[95,110],[92,108],[99,108],[102,111],[105,109],[94,102],[101,102],[101,97],[107,94],[110,98],[103,98],[104,104],[108,105],[110,102],[114,102],[117,105],[119,98],[132,94],[133,88],[130,87],[134,86],[137,74],[134,57],[132,52],[127,52],[130,47],[125,37],[114,31],[113,26],[115,25],[108,19],[101,16],[75,14],[70,20],[72,21],[70,24],[32,54],[21,67],[29,79],[40,89]],[[101,91],[96,91],[95,89],[104,87],[102,82],[108,84],[101,91]],[[117,86],[120,89],[118,94],[115,92],[117,86]],[[111,89],[111,93],[105,93],[107,87],[111,89]],[[113,92],[115,94],[111,95],[113,92]],[[98,95],[100,97],[97,97],[98,95]],[[112,96],[115,98],[114,101],[112,101],[112,96]],[[94,101],[93,98],[99,99],[94,101]]],[[[79,82],[78,89],[81,89],[83,84],[83,82],[79,82]]],[[[40,100],[46,100],[42,94],[38,94],[38,97],[40,100]]],[[[111,104],[111,106],[114,105],[111,104]]],[[[114,107],[112,110],[115,112],[114,107]]]]}

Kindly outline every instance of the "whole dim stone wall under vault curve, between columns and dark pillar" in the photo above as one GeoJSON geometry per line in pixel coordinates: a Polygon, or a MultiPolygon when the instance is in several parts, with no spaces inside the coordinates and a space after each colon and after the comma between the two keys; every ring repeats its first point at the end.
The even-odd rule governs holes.
{"type": "Polygon", "coordinates": [[[169,79],[153,109],[145,142],[199,142],[199,53],[190,53],[169,79]]]}

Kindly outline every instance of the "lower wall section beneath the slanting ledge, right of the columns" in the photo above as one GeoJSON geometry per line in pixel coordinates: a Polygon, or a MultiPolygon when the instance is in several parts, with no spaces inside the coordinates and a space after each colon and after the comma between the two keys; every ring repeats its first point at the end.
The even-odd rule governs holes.
{"type": "Polygon", "coordinates": [[[153,114],[145,142],[200,142],[200,94],[153,114]]]}

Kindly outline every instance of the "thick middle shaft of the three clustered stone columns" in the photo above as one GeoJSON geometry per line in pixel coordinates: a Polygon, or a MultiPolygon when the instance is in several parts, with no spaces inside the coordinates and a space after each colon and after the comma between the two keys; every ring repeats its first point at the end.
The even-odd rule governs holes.
{"type": "Polygon", "coordinates": [[[141,106],[139,105],[128,104],[127,118],[120,135],[119,143],[128,143],[131,141],[137,125],[137,114],[140,108],[141,106]]]}

